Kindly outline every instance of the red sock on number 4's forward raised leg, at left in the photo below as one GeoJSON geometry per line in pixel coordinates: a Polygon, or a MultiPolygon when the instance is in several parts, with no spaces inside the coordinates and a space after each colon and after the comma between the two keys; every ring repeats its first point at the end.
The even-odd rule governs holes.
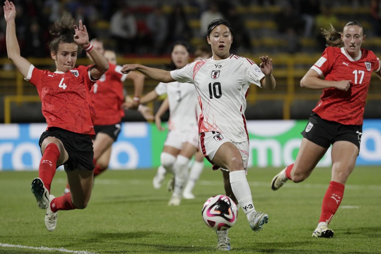
{"type": "Polygon", "coordinates": [[[46,189],[50,193],[50,185],[56,174],[57,160],[59,158],[58,146],[54,143],[46,145],[44,154],[42,155],[40,166],[38,167],[38,177],[43,181],[46,189]]]}

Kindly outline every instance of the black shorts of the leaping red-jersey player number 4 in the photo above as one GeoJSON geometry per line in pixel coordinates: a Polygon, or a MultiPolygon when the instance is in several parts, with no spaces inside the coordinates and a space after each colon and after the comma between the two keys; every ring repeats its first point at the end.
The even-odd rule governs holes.
{"type": "MultiPolygon", "coordinates": [[[[59,139],[69,155],[69,159],[63,164],[66,172],[74,169],[93,170],[93,142],[91,142],[90,135],[80,134],[58,127],[50,127],[47,131],[44,131],[38,141],[38,145],[42,145],[42,142],[46,137],[55,137],[59,139]]],[[[61,165],[57,165],[61,166],[61,165]]]]}

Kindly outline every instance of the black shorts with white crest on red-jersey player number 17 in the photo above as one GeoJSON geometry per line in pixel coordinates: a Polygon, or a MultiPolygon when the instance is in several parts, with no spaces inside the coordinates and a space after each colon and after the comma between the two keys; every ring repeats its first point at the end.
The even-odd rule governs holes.
{"type": "Polygon", "coordinates": [[[324,120],[317,113],[312,113],[301,134],[321,147],[328,148],[336,141],[348,141],[355,144],[360,151],[362,125],[343,125],[335,121],[324,120]]]}

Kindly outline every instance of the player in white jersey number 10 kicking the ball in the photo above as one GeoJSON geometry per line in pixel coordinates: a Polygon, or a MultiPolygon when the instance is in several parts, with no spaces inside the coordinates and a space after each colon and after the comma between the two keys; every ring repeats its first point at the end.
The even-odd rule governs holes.
{"type": "MultiPolygon", "coordinates": [[[[161,82],[193,83],[202,112],[199,115],[199,138],[202,151],[213,165],[222,168],[226,195],[245,212],[250,227],[258,231],[268,216],[257,212],[246,179],[249,155],[246,129],[246,94],[251,83],[266,89],[275,88],[272,59],[260,57],[260,67],[252,60],[229,52],[233,31],[229,22],[216,19],[208,26],[207,41],[213,56],[197,60],[171,72],[140,64],[123,65],[121,72],[138,70],[161,82]]],[[[229,250],[227,230],[219,231],[218,249],[229,250]]]]}

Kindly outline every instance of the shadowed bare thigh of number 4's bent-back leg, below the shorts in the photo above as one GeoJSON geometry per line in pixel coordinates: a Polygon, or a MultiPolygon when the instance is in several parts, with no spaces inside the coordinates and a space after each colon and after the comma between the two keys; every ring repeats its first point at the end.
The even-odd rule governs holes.
{"type": "Polygon", "coordinates": [[[67,171],[66,174],[72,202],[76,208],[80,208],[90,200],[93,189],[93,171],[75,169],[67,171]]]}

